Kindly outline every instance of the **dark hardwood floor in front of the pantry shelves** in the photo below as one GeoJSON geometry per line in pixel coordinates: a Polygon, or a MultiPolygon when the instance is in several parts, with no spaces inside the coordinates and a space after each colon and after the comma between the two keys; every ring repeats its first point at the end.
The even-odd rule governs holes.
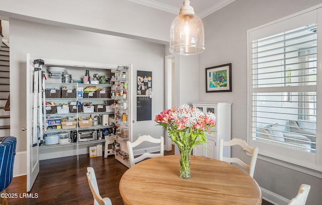
{"type": "MultiPolygon", "coordinates": [[[[165,155],[169,154],[173,152],[165,151],[165,155]]],[[[87,154],[79,155],[78,161],[76,156],[40,161],[40,171],[28,197],[23,195],[27,193],[26,176],[14,177],[6,191],[18,197],[9,198],[9,205],[93,204],[86,177],[88,166],[94,167],[101,196],[109,197],[113,205],[123,205],[119,181],[127,167],[114,156],[90,158],[87,154]]],[[[272,205],[265,200],[262,204],[272,205]]]]}

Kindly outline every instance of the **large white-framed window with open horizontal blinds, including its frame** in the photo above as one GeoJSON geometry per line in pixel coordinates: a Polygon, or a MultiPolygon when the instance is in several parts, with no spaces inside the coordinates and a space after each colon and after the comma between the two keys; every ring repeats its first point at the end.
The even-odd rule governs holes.
{"type": "Polygon", "coordinates": [[[248,141],[260,154],[322,170],[318,12],[248,31],[248,141]]]}

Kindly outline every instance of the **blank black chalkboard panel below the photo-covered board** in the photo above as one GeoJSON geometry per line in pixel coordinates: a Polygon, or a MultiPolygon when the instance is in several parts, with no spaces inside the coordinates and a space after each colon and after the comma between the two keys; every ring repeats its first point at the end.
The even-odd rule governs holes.
{"type": "Polygon", "coordinates": [[[151,120],[152,98],[147,96],[136,97],[136,121],[151,120]]]}

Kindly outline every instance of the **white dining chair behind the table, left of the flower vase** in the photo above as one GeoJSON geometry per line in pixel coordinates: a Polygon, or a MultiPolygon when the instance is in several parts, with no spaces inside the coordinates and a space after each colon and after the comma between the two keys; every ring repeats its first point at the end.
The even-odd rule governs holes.
{"type": "Polygon", "coordinates": [[[135,140],[135,142],[127,141],[127,149],[129,153],[130,164],[133,166],[135,163],[142,161],[145,158],[153,158],[158,156],[164,155],[164,137],[160,137],[158,139],[151,137],[150,135],[142,135],[135,140]],[[141,144],[142,142],[151,142],[157,143],[160,145],[160,152],[159,153],[144,153],[136,158],[134,158],[133,148],[141,144]]]}

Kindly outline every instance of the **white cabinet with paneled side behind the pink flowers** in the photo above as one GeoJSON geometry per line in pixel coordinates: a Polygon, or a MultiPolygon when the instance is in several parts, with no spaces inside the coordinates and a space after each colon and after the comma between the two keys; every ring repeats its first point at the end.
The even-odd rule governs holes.
{"type": "MultiPolygon", "coordinates": [[[[193,102],[192,106],[204,113],[212,112],[215,114],[216,126],[212,128],[214,132],[206,132],[208,151],[201,145],[193,148],[193,155],[205,156],[218,159],[219,140],[228,141],[231,139],[231,104],[230,102],[193,102]]],[[[225,147],[226,148],[226,147],[225,147]]],[[[224,156],[230,157],[230,149],[224,149],[224,156]]]]}

